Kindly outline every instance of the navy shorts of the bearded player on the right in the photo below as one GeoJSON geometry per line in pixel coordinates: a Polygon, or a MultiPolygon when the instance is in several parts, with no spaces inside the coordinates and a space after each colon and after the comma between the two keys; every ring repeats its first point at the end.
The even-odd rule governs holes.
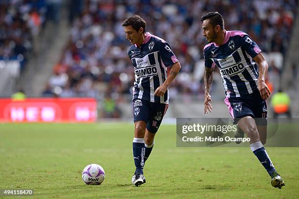
{"type": "Polygon", "coordinates": [[[267,125],[267,103],[261,98],[258,90],[242,97],[225,98],[224,102],[235,124],[242,117],[252,116],[256,120],[256,125],[267,125]]]}

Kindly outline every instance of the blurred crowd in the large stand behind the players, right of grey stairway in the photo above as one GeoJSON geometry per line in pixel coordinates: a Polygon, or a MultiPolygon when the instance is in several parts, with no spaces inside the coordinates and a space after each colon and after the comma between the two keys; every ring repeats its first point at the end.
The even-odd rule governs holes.
{"type": "MultiPolygon", "coordinates": [[[[53,68],[46,94],[121,100],[131,93],[134,71],[122,22],[134,14],[147,22],[147,31],[165,39],[181,63],[171,94],[198,94],[202,77],[194,68],[203,59],[206,43],[200,17],[220,12],[225,29],[247,32],[263,52],[284,54],[296,17],[297,0],[75,0],[69,6],[70,37],[53,68]]],[[[274,63],[275,65],[275,63],[274,63]]],[[[279,69],[274,67],[275,72],[279,69]]]]}

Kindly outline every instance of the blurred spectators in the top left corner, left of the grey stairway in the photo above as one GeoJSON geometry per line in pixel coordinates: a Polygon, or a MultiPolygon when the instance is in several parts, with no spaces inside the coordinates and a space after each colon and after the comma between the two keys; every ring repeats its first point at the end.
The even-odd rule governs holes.
{"type": "Polygon", "coordinates": [[[0,60],[18,60],[24,66],[46,10],[44,0],[0,1],[0,60]]]}

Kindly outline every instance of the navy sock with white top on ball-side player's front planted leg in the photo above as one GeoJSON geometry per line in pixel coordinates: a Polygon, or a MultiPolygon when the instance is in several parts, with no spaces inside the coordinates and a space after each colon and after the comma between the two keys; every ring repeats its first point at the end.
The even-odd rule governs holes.
{"type": "Polygon", "coordinates": [[[145,146],[144,146],[144,138],[136,138],[133,139],[133,155],[134,155],[134,163],[136,167],[135,173],[143,174],[143,166],[145,162],[145,146]]]}

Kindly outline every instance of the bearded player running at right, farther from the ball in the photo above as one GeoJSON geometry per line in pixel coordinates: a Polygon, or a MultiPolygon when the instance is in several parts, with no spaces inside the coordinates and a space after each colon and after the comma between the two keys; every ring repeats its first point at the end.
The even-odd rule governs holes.
{"type": "Polygon", "coordinates": [[[214,67],[219,67],[230,114],[250,138],[250,148],[272,178],[271,184],[281,189],[284,182],[274,168],[261,140],[265,143],[267,104],[270,90],[265,84],[268,64],[258,45],[242,31],[224,29],[223,17],[209,12],[201,17],[204,47],[205,102],[204,113],[212,111],[210,90],[214,67]],[[258,70],[257,70],[257,65],[258,70]]]}

